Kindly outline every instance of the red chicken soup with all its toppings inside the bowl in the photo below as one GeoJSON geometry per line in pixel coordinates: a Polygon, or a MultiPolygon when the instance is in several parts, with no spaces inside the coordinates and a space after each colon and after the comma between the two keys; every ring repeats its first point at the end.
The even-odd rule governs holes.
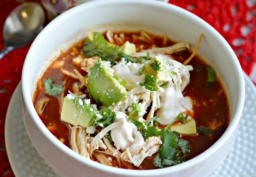
{"type": "Polygon", "coordinates": [[[230,120],[215,71],[194,55],[200,40],[191,53],[166,35],[89,34],[38,80],[35,109],[81,158],[142,170],[182,163],[214,144],[230,120]]]}

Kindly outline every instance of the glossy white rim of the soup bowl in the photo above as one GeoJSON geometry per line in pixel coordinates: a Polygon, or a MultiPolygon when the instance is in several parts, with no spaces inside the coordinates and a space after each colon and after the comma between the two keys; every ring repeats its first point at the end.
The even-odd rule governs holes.
{"type": "Polygon", "coordinates": [[[219,32],[217,32],[211,25],[209,25],[207,22],[205,22],[203,19],[200,17],[192,14],[191,12],[182,9],[178,6],[169,4],[169,3],[163,3],[159,1],[148,1],[148,0],[109,0],[109,1],[104,1],[104,0],[97,0],[97,1],[91,1],[91,2],[86,2],[84,4],[81,4],[79,6],[73,7],[69,9],[68,11],[64,12],[63,14],[59,15],[56,17],[53,21],[51,21],[36,37],[34,42],[32,43],[25,62],[24,66],[22,69],[22,95],[24,99],[24,103],[26,105],[26,108],[29,112],[29,115],[31,116],[31,119],[34,121],[35,125],[37,128],[41,131],[41,133],[54,145],[56,146],[60,151],[64,152],[71,158],[74,158],[75,160],[79,161],[80,163],[83,163],[87,166],[90,166],[92,168],[98,169],[100,171],[105,171],[108,173],[113,173],[113,174],[118,174],[118,175],[136,175],[136,176],[150,176],[152,175],[152,172],[157,175],[164,175],[164,174],[170,174],[174,172],[178,172],[181,170],[184,170],[186,168],[189,168],[199,162],[204,161],[207,159],[211,154],[216,152],[227,140],[228,138],[234,133],[235,129],[237,128],[237,125],[239,123],[242,110],[243,110],[243,105],[244,105],[244,98],[245,98],[245,84],[244,84],[244,77],[243,77],[243,72],[242,68],[240,66],[240,63],[233,51],[233,49],[230,47],[228,42],[221,36],[219,32]],[[227,130],[223,133],[223,135],[206,151],[203,153],[199,154],[198,156],[185,161],[184,163],[175,165],[175,166],[170,166],[162,169],[153,169],[153,170],[128,170],[128,169],[122,169],[122,168],[116,168],[116,167],[110,167],[106,168],[106,165],[103,165],[101,163],[95,162],[93,160],[87,159],[82,157],[80,154],[74,152],[72,149],[68,148],[65,146],[63,143],[61,143],[43,124],[41,119],[39,118],[38,114],[36,113],[33,102],[31,99],[31,94],[29,93],[30,86],[28,84],[28,76],[29,76],[29,69],[31,67],[31,61],[33,60],[33,57],[35,53],[35,49],[37,48],[38,44],[42,39],[47,36],[47,33],[53,28],[56,24],[58,24],[59,21],[68,18],[69,15],[75,13],[79,9],[88,9],[92,8],[95,6],[104,6],[104,5],[109,5],[109,4],[140,4],[140,5],[147,5],[147,6],[154,6],[155,8],[162,8],[165,10],[173,11],[175,13],[178,13],[182,15],[184,18],[188,18],[192,20],[194,23],[197,23],[205,28],[205,30],[210,31],[214,37],[216,37],[225,50],[228,52],[227,55],[230,56],[232,59],[232,62],[234,64],[235,70],[237,71],[235,73],[235,76],[238,79],[238,98],[237,98],[237,104],[235,106],[235,111],[232,120],[230,121],[230,124],[227,128],[227,130]]]}

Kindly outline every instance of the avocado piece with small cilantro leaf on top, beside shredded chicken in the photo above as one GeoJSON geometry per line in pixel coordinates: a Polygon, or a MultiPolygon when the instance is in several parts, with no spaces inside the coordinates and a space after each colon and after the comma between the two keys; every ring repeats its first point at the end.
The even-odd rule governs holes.
{"type": "Polygon", "coordinates": [[[156,56],[152,58],[150,62],[145,65],[145,69],[147,70],[148,74],[154,76],[159,81],[166,81],[167,73],[165,71],[165,61],[163,57],[156,56]],[[160,71],[155,71],[150,64],[155,63],[155,61],[160,62],[160,71]]]}

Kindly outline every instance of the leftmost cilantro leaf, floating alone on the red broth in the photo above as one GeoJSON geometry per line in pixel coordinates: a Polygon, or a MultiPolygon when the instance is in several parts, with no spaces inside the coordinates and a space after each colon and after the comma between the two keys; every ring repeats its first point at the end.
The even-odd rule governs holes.
{"type": "Polygon", "coordinates": [[[56,94],[60,94],[62,92],[62,85],[58,85],[58,84],[52,84],[53,82],[53,78],[47,78],[44,79],[44,88],[46,90],[46,93],[48,95],[56,95],[56,94]]]}

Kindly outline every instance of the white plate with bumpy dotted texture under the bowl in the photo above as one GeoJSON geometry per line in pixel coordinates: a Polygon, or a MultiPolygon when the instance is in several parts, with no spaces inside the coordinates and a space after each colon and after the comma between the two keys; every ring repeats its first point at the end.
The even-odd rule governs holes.
{"type": "MultiPolygon", "coordinates": [[[[254,176],[256,173],[256,89],[246,74],[245,104],[234,145],[213,176],[254,176]]],[[[16,177],[58,176],[39,157],[27,135],[22,119],[21,84],[15,89],[6,114],[5,143],[16,177]]]]}

